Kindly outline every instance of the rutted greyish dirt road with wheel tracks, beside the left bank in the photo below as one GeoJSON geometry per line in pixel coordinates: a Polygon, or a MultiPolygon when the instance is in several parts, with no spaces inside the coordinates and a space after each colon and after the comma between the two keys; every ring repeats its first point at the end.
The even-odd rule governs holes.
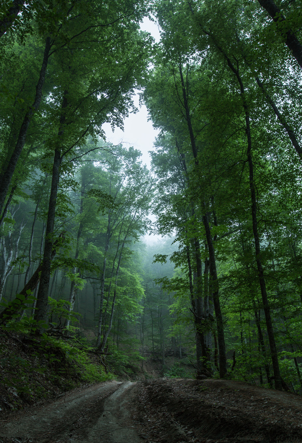
{"type": "Polygon", "coordinates": [[[135,385],[130,381],[97,384],[74,390],[29,413],[19,412],[1,423],[0,441],[143,442],[130,412],[135,385]]]}

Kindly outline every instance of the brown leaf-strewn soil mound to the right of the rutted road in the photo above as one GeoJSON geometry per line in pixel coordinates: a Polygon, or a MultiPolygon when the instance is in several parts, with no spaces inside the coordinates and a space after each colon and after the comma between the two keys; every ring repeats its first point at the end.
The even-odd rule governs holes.
{"type": "Polygon", "coordinates": [[[155,380],[138,419],[157,443],[302,442],[302,398],[231,380],[155,380]]]}

